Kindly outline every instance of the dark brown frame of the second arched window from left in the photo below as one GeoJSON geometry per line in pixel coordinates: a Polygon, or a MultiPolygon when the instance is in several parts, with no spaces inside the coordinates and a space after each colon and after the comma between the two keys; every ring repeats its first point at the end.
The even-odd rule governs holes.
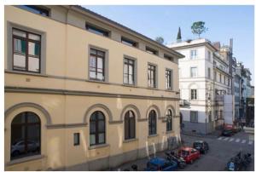
{"type": "Polygon", "coordinates": [[[104,115],[104,113],[103,112],[101,112],[101,111],[95,111],[95,112],[92,112],[91,113],[91,115],[90,115],[90,125],[91,125],[91,122],[94,122],[95,123],[95,127],[96,127],[96,129],[95,129],[95,132],[91,132],[90,131],[90,126],[89,126],[89,143],[90,143],[90,135],[95,135],[95,143],[94,144],[91,144],[90,143],[90,146],[96,146],[96,145],[102,145],[102,144],[106,144],[106,117],[105,117],[105,115],[104,115]],[[101,113],[102,114],[102,116],[103,116],[103,119],[99,119],[98,118],[98,115],[99,115],[99,113],[101,113]],[[93,115],[96,115],[96,120],[92,120],[91,119],[91,117],[93,116],[93,115]],[[104,122],[104,131],[103,132],[99,132],[98,130],[99,130],[99,122],[101,122],[101,121],[103,121],[104,122]],[[104,141],[103,142],[99,142],[99,135],[100,134],[104,134],[104,141]]]}

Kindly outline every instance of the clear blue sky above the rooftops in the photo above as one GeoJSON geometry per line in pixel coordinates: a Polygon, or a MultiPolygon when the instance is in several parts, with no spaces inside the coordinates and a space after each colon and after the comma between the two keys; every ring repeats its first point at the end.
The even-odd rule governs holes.
{"type": "Polygon", "coordinates": [[[194,21],[206,22],[208,31],[201,37],[228,44],[233,37],[236,60],[252,72],[254,85],[254,9],[253,6],[84,6],[111,20],[151,38],[164,37],[165,43],[176,41],[178,26],[182,38],[193,39],[190,26],[194,21]]]}

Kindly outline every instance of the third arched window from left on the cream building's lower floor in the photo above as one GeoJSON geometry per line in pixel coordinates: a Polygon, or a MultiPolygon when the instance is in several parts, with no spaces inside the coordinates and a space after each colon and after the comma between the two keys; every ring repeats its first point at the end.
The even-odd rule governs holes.
{"type": "Polygon", "coordinates": [[[135,115],[132,111],[125,113],[125,140],[135,138],[135,115]]]}

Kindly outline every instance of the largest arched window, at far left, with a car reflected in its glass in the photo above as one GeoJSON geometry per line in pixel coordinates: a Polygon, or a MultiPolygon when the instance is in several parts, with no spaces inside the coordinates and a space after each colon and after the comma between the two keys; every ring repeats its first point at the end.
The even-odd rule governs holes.
{"type": "Polygon", "coordinates": [[[41,122],[33,112],[21,112],[11,123],[11,159],[40,154],[41,122]]]}

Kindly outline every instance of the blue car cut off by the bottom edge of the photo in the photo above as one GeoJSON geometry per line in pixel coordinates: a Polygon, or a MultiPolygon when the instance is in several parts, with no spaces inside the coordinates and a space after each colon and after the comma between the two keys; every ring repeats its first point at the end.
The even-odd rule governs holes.
{"type": "Polygon", "coordinates": [[[175,171],[177,163],[165,158],[151,158],[147,163],[146,171],[175,171]]]}

